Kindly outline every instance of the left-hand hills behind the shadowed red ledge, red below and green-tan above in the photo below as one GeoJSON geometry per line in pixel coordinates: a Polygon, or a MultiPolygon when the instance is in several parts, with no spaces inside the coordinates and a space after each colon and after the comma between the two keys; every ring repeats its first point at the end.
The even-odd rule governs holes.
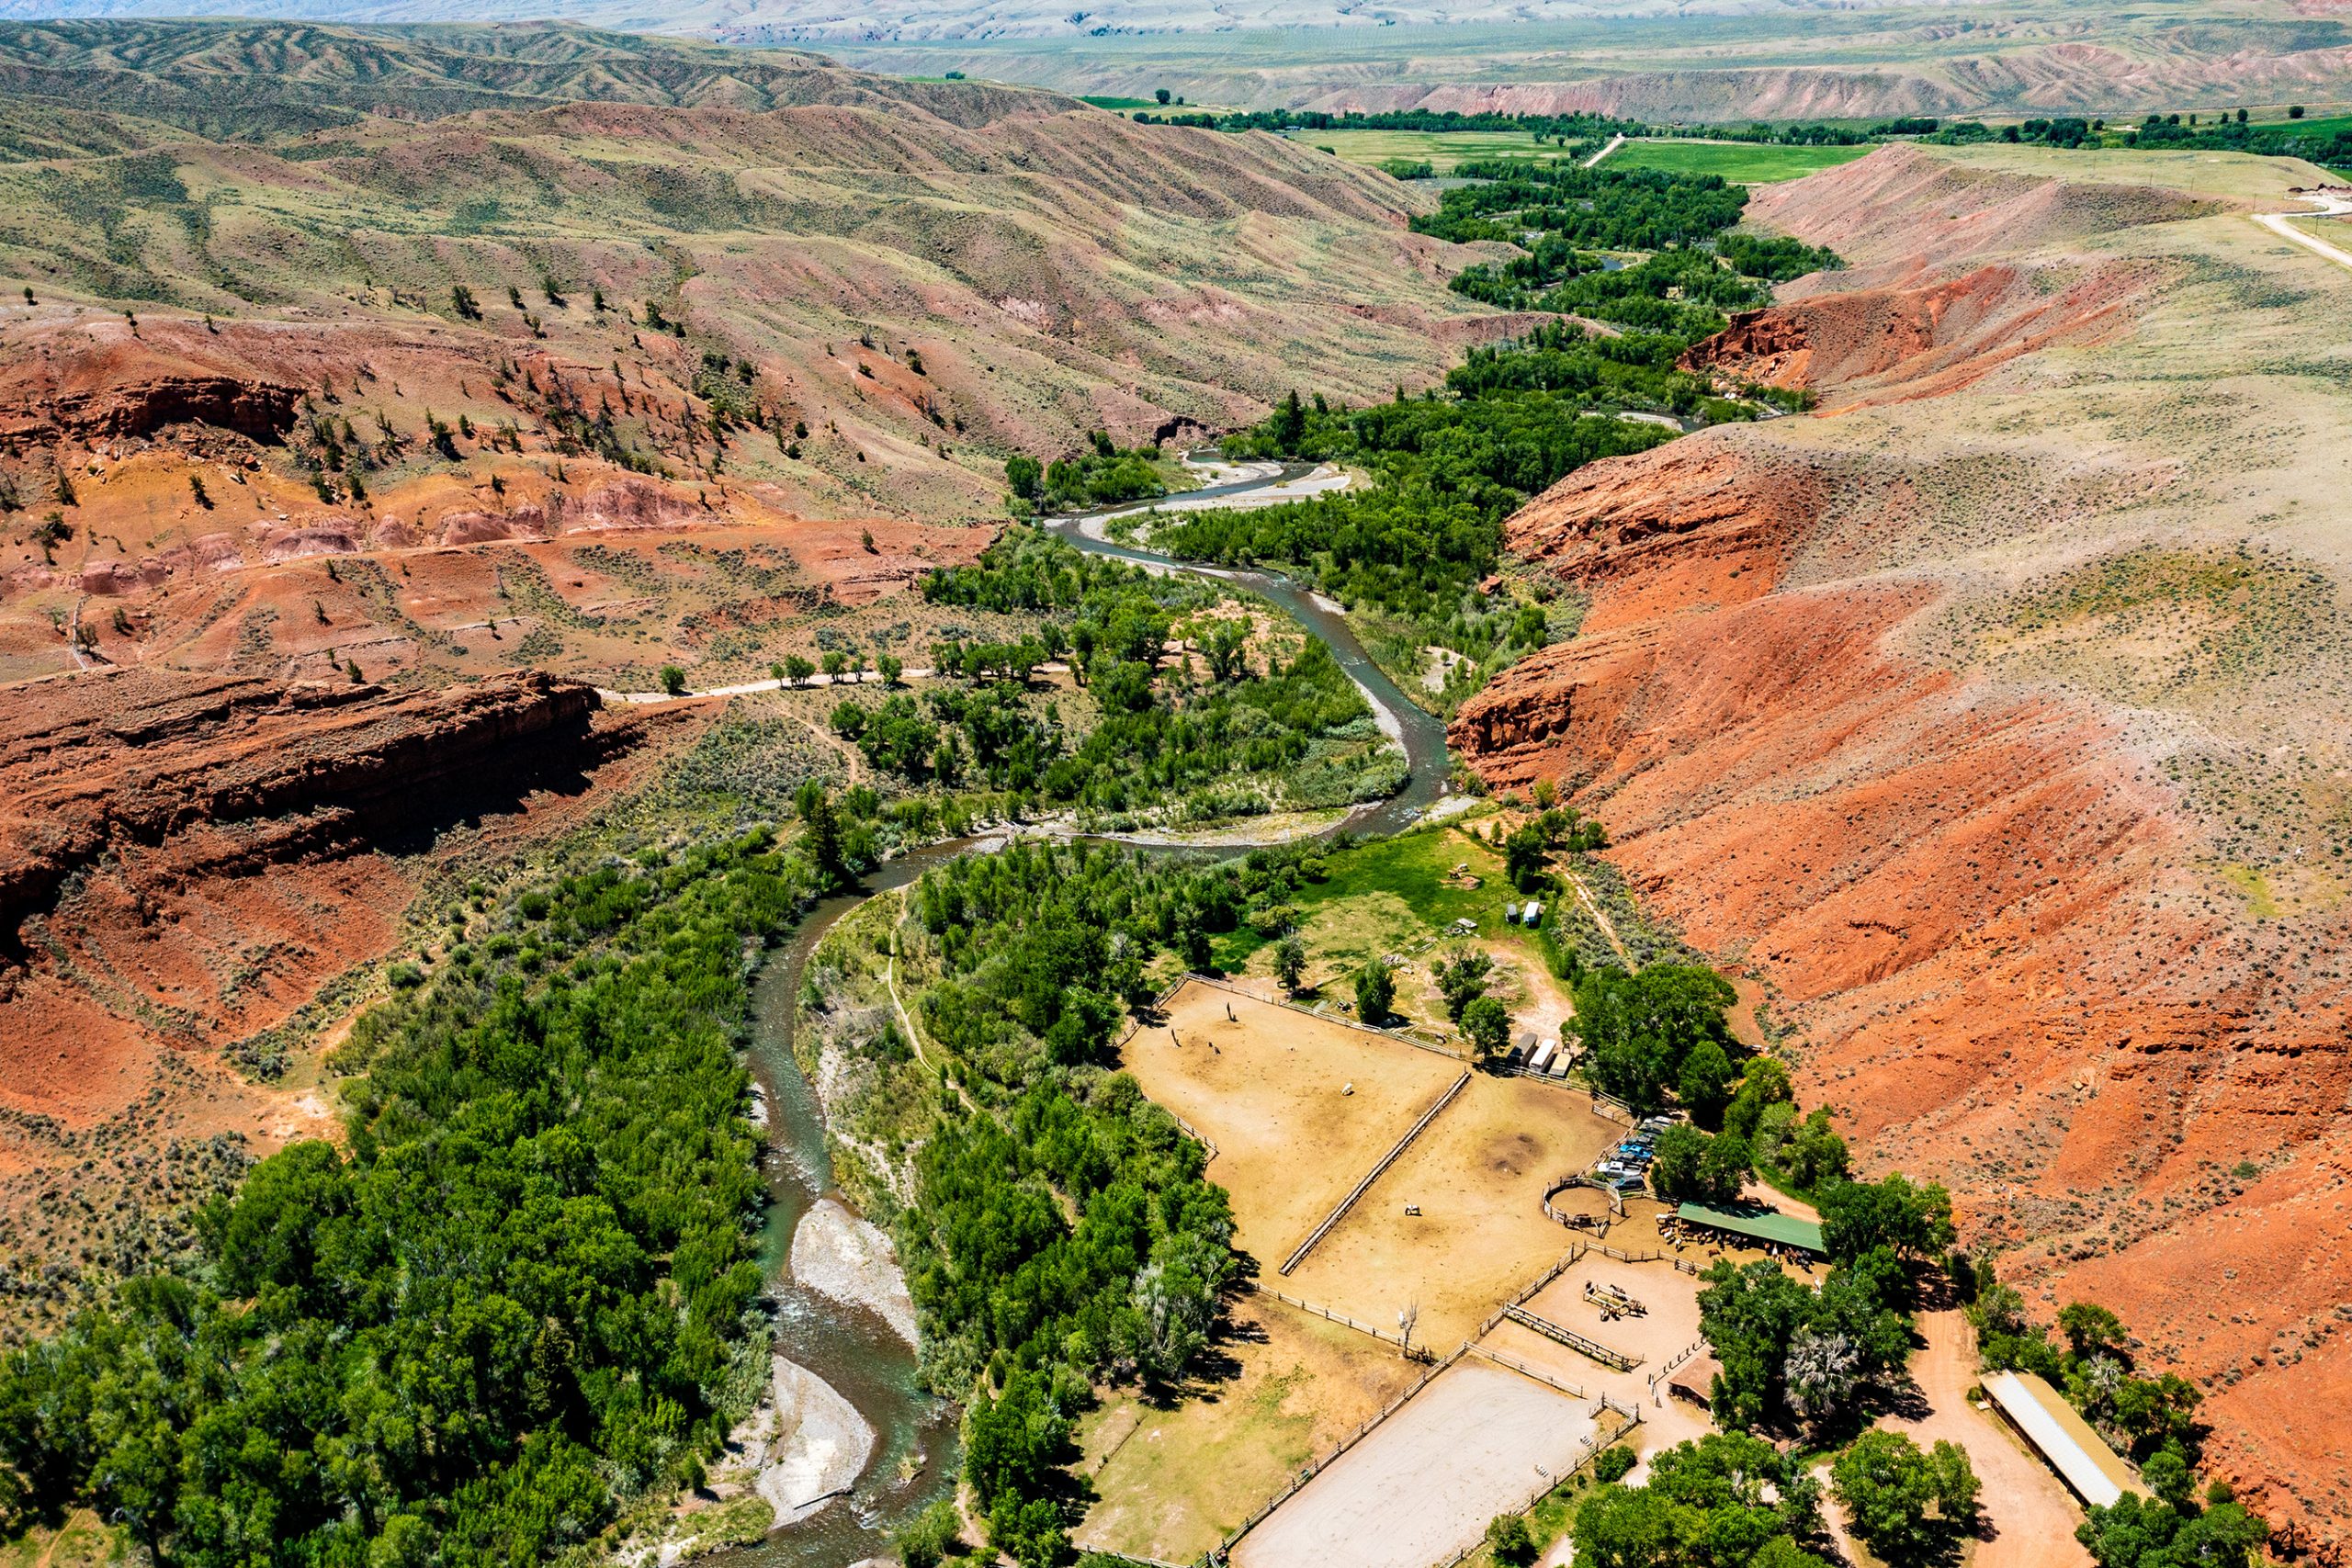
{"type": "Polygon", "coordinates": [[[764,670],[969,557],[1007,454],[1225,428],[1301,364],[1371,395],[1475,329],[1418,197],[1310,150],[771,73],[762,113],[0,165],[0,672],[764,670]]]}

